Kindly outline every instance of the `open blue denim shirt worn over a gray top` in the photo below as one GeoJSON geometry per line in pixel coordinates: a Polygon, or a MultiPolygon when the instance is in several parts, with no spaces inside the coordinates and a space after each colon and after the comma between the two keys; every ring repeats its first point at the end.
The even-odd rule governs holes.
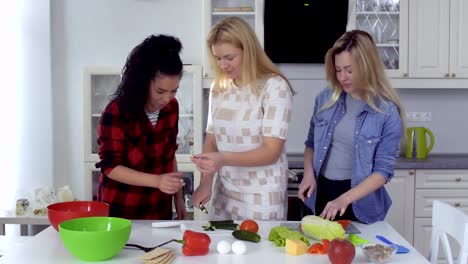
{"type": "MultiPolygon", "coordinates": [[[[314,150],[313,169],[315,179],[327,158],[336,125],[346,113],[345,99],[342,93],[338,101],[330,108],[319,109],[328,102],[333,94],[330,88],[324,89],[315,99],[314,114],[310,120],[309,134],[305,145],[314,150]]],[[[387,179],[393,177],[395,161],[402,136],[403,122],[397,106],[390,101],[377,101],[381,111],[376,111],[368,104],[358,114],[354,130],[354,160],[351,175],[351,187],[355,187],[378,173],[387,179]]],[[[315,211],[314,193],[306,200],[307,206],[315,211]]],[[[392,200],[385,187],[368,194],[352,204],[356,217],[364,223],[373,223],[385,218],[392,200]]],[[[320,213],[320,212],[318,212],[320,213]]]]}

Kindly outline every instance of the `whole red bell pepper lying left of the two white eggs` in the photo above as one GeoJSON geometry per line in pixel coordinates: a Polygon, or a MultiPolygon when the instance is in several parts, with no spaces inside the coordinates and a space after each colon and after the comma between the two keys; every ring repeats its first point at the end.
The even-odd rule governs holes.
{"type": "Polygon", "coordinates": [[[184,256],[203,256],[210,251],[211,239],[205,233],[186,230],[182,240],[176,240],[182,244],[184,256]]]}

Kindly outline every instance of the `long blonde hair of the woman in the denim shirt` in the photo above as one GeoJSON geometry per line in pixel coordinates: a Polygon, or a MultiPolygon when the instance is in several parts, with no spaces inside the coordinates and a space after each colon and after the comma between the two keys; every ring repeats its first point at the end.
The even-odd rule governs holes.
{"type": "Polygon", "coordinates": [[[400,99],[385,75],[384,65],[380,59],[377,46],[371,35],[362,30],[345,32],[325,55],[327,80],[333,90],[333,96],[323,108],[336,103],[343,93],[343,87],[336,77],[335,56],[343,51],[351,54],[353,59],[353,86],[359,87],[363,100],[376,111],[381,111],[376,99],[393,102],[403,120],[403,108],[400,99]]]}

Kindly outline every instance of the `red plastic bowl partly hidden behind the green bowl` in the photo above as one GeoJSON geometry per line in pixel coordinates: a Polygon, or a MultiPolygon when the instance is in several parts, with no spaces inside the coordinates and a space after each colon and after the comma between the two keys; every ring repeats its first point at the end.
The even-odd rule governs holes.
{"type": "Polygon", "coordinates": [[[65,220],[90,216],[109,216],[109,204],[98,201],[71,201],[47,206],[47,217],[57,231],[59,224],[65,220]]]}

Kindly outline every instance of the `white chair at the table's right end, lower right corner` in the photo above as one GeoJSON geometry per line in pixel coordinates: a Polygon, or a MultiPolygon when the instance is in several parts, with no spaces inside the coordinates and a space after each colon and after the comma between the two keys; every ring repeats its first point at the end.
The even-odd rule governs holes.
{"type": "Polygon", "coordinates": [[[432,205],[432,237],[430,260],[436,264],[439,256],[439,241],[447,257],[447,263],[453,264],[452,249],[447,234],[460,245],[458,264],[467,264],[468,259],[468,216],[460,209],[435,200],[432,205]]]}

